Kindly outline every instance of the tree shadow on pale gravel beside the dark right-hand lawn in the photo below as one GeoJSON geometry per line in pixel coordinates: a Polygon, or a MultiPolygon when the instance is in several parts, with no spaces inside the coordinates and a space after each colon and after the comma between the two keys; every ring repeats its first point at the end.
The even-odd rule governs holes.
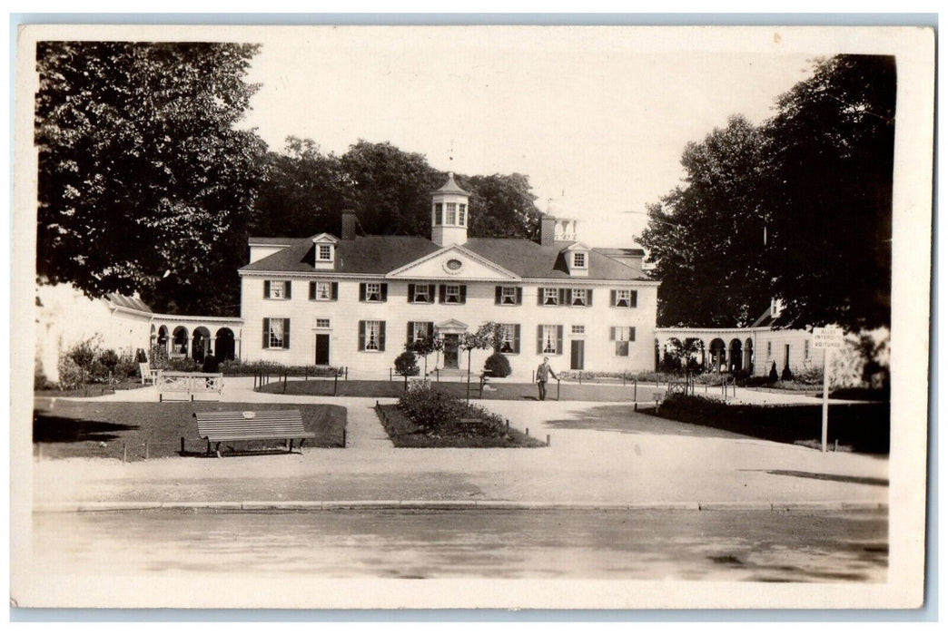
{"type": "Polygon", "coordinates": [[[746,438],[742,434],[707,426],[695,426],[635,412],[630,405],[571,409],[569,419],[555,419],[544,425],[565,430],[597,430],[627,434],[673,434],[684,437],[746,438]]]}

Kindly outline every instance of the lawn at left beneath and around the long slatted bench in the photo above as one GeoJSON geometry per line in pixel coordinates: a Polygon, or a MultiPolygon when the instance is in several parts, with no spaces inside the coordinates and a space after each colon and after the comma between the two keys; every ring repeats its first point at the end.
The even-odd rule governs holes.
{"type": "MultiPolygon", "coordinates": [[[[297,409],[307,431],[316,439],[306,445],[341,447],[346,425],[346,408],[328,405],[184,403],[101,403],[37,398],[33,409],[33,447],[43,458],[94,457],[121,459],[123,448],[128,461],[180,455],[181,437],[185,451],[202,454],[207,442],[197,436],[192,416],[207,410],[297,409]],[[42,450],[41,450],[42,445],[42,450]]],[[[280,447],[279,442],[236,443],[238,450],[263,451],[280,447]]],[[[222,446],[222,450],[224,447],[222,446]]]]}

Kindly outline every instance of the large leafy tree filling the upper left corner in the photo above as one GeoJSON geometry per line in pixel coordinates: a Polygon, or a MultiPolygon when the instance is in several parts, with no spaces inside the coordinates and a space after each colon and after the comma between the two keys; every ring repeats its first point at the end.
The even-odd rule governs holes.
{"type": "Polygon", "coordinates": [[[244,81],[256,50],[37,45],[42,279],[90,296],[139,291],[159,310],[236,305],[264,148],[235,128],[256,90],[244,81]]]}

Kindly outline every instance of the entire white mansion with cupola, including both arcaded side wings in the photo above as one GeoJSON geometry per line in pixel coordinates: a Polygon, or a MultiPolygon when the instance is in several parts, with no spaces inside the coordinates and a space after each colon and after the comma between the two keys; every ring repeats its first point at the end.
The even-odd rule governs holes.
{"type": "MultiPolygon", "coordinates": [[[[37,359],[56,380],[59,355],[98,334],[103,348],[129,353],[157,347],[380,378],[406,343],[428,335],[444,342],[429,371],[466,369],[460,336],[492,321],[504,325],[501,353],[521,379],[543,357],[556,372],[650,372],[676,339],[702,342],[705,370],[765,374],[814,362],[810,334],[779,329],[775,306],[743,329],[656,329],[659,282],[643,271],[641,249],[591,247],[574,219],[552,214],[541,217],[538,243],[468,238],[468,198],[450,174],[432,194],[430,239],[356,235],[352,211],[342,212],[338,238],[250,238],[237,318],[155,314],[117,294],[89,300],[41,287],[37,359]]],[[[471,368],[491,353],[475,350],[471,368]]]]}

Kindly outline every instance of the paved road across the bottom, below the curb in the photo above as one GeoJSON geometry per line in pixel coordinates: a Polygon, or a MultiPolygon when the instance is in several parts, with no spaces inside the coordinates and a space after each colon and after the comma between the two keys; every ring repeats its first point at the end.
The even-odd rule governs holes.
{"type": "Polygon", "coordinates": [[[33,515],[35,571],[884,582],[884,512],[337,511],[33,515]]]}

